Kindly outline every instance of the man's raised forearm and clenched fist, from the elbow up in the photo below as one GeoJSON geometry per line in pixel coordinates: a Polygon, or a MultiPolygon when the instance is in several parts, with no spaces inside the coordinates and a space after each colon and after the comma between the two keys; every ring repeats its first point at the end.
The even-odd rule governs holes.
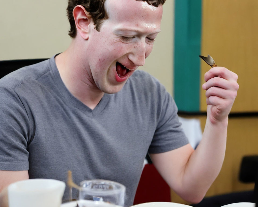
{"type": "Polygon", "coordinates": [[[196,196],[198,202],[220,172],[226,149],[228,115],[239,88],[237,78],[223,67],[213,67],[204,75],[202,88],[206,91],[207,120],[200,144],[183,167],[181,187],[188,187],[182,191],[187,199],[196,196]]]}

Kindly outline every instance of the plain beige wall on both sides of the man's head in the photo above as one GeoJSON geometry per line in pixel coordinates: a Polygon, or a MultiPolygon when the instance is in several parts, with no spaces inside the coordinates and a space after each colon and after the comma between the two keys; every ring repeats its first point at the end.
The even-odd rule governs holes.
{"type": "MultiPolygon", "coordinates": [[[[67,1],[0,0],[0,60],[48,58],[64,51],[67,34],[67,1]]],[[[142,70],[148,71],[172,94],[174,0],[163,7],[162,33],[142,70]]]]}

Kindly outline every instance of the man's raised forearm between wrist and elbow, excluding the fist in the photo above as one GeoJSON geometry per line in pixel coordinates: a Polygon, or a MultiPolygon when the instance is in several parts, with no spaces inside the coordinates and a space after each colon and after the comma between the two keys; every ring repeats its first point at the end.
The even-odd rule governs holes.
{"type": "Polygon", "coordinates": [[[211,123],[207,118],[203,138],[191,154],[182,177],[182,186],[188,189],[184,191],[187,200],[199,202],[219,174],[225,156],[227,122],[226,119],[211,123]]]}

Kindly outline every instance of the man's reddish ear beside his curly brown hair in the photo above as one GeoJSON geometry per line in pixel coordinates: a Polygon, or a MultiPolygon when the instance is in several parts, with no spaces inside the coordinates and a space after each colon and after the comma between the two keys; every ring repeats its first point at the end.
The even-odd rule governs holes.
{"type": "Polygon", "coordinates": [[[85,40],[89,38],[89,24],[92,18],[82,5],[75,6],[72,11],[77,33],[85,40]]]}

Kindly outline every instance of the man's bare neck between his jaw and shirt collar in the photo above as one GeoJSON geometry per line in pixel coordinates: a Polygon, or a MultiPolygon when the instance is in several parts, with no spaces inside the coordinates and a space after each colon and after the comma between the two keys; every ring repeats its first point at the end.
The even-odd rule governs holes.
{"type": "Polygon", "coordinates": [[[55,62],[61,79],[70,93],[83,104],[94,109],[104,92],[96,86],[86,62],[87,54],[85,51],[78,50],[76,41],[78,40],[73,39],[68,49],[55,57],[55,62]]]}

